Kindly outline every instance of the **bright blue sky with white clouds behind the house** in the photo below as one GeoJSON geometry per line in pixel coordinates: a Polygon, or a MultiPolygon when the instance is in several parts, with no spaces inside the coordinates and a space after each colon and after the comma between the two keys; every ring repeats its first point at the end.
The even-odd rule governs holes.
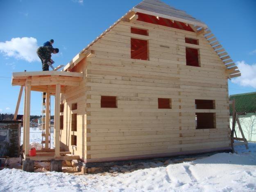
{"type": "MultiPolygon", "coordinates": [[[[15,111],[19,87],[11,86],[12,72],[41,70],[41,61],[33,54],[36,46],[53,38],[54,47],[60,50],[59,54],[53,56],[55,65],[66,65],[88,43],[139,2],[0,0],[0,113],[15,111]]],[[[238,62],[242,77],[234,82],[229,81],[229,94],[256,91],[255,0],[163,2],[206,23],[233,61],[238,62]]],[[[31,113],[39,115],[40,111],[41,93],[32,92],[31,113]]],[[[23,98],[19,113],[23,114],[23,98]]]]}

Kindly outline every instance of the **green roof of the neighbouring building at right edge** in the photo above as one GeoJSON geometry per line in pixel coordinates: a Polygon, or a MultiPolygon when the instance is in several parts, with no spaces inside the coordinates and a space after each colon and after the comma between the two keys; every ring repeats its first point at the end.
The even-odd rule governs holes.
{"type": "MultiPolygon", "coordinates": [[[[229,100],[233,99],[238,113],[256,112],[256,92],[230,95],[229,100]]],[[[232,107],[229,108],[229,113],[233,113],[232,107]]]]}

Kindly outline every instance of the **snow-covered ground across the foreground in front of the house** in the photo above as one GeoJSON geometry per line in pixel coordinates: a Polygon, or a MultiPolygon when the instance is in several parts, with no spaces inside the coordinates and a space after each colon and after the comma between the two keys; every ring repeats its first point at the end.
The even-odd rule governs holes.
{"type": "Polygon", "coordinates": [[[256,191],[256,143],[236,151],[114,176],[3,169],[0,191],[256,191]]]}

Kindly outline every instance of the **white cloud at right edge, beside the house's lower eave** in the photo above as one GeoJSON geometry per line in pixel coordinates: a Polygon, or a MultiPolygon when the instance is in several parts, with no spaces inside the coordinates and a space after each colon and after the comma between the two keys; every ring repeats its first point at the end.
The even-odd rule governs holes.
{"type": "Polygon", "coordinates": [[[236,62],[241,76],[231,79],[231,81],[240,86],[250,86],[256,88],[256,63],[249,65],[245,61],[236,62]]]}

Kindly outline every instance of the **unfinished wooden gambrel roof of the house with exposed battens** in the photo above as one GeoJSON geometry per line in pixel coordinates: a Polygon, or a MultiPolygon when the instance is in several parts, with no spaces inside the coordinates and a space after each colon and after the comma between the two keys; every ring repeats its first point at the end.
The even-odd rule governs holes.
{"type": "MultiPolygon", "coordinates": [[[[227,68],[227,72],[229,73],[229,79],[233,77],[241,76],[241,73],[238,67],[233,63],[233,60],[228,55],[228,53],[223,49],[222,45],[217,41],[217,38],[212,34],[211,30],[208,29],[207,25],[202,21],[195,19],[194,17],[187,14],[185,11],[181,11],[179,9],[175,9],[174,7],[170,7],[169,5],[161,2],[160,0],[143,0],[138,5],[133,7],[130,11],[128,11],[125,16],[122,16],[119,20],[116,21],[113,25],[106,29],[100,36],[98,36],[94,41],[92,41],[89,45],[87,45],[79,54],[77,54],[64,68],[63,71],[71,70],[77,63],[79,63],[84,57],[92,54],[89,49],[95,42],[97,42],[100,38],[102,38],[106,33],[108,33],[114,26],[116,26],[122,20],[128,20],[131,22],[131,18],[135,16],[135,14],[143,13],[149,14],[152,16],[159,16],[162,18],[167,18],[170,20],[179,21],[182,23],[186,23],[190,25],[190,27],[199,35],[204,34],[204,37],[208,41],[208,43],[213,47],[217,55],[223,61],[224,66],[227,68]]],[[[134,17],[136,18],[136,17],[134,17]]],[[[136,20],[136,19],[135,19],[136,20]]]]}

